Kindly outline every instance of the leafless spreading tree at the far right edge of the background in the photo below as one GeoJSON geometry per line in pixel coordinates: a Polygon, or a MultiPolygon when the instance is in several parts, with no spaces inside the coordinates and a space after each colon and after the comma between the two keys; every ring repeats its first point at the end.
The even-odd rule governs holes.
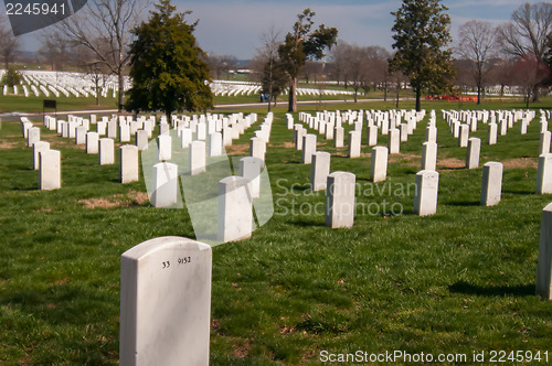
{"type": "Polygon", "coordinates": [[[534,55],[537,63],[532,63],[534,85],[532,99],[539,99],[539,86],[544,82],[540,65],[546,52],[548,35],[552,32],[552,3],[526,2],[512,13],[512,21],[499,29],[499,41],[502,50],[513,56],[531,58],[534,55]]]}

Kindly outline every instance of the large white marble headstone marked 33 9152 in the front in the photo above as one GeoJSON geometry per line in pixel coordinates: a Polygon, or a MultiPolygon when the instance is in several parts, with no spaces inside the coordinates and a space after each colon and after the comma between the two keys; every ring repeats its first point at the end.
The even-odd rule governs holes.
{"type": "Polygon", "coordinates": [[[211,247],[144,241],[120,258],[119,364],[209,365],[211,247]]]}

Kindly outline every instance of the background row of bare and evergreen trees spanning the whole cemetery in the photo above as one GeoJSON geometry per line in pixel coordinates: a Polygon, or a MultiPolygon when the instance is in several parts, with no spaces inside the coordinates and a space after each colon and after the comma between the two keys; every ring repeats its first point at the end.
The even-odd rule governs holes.
{"type": "MultiPolygon", "coordinates": [[[[116,75],[119,110],[210,108],[206,82],[227,76],[236,67],[236,57],[205,54],[193,36],[197,22],[188,22],[190,12],[177,12],[170,0],[161,0],[146,19],[150,8],[148,0],[88,1],[82,11],[42,33],[39,55],[52,69],[78,67],[95,78],[96,86],[103,77],[105,82],[105,75],[116,75]],[[125,75],[134,79],[126,100],[125,75]]],[[[381,89],[386,99],[392,89],[400,93],[408,84],[416,109],[423,95],[467,89],[477,90],[480,103],[486,87],[496,85],[501,93],[517,86],[528,104],[538,100],[541,90],[548,92],[552,84],[551,3],[523,3],[511,21],[499,26],[466,22],[456,45],[447,10],[439,0],[403,0],[392,13],[390,52],[339,40],[336,28],[316,26],[316,13],[305,9],[283,37],[274,29],[263,34],[251,65],[272,100],[289,92],[290,111],[297,109],[299,79],[312,82],[322,76],[351,88],[354,101],[361,90],[381,89]]],[[[19,47],[6,17],[0,19],[0,56],[6,68],[19,47]]]]}

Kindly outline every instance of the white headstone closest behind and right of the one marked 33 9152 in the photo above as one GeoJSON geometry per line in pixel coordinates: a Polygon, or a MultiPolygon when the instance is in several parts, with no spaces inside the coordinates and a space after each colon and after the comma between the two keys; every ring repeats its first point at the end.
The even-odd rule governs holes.
{"type": "Polygon", "coordinates": [[[242,176],[226,176],[219,182],[220,241],[236,241],[251,237],[253,200],[247,189],[248,183],[250,181],[242,176]]]}

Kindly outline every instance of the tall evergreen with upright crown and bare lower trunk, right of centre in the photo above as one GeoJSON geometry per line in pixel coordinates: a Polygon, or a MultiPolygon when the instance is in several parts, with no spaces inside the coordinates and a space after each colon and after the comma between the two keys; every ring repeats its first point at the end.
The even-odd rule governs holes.
{"type": "Polygon", "coordinates": [[[392,31],[395,55],[392,71],[402,71],[416,93],[416,110],[421,109],[423,89],[442,93],[453,88],[455,69],[448,49],[450,18],[439,0],[403,0],[392,31]]]}

